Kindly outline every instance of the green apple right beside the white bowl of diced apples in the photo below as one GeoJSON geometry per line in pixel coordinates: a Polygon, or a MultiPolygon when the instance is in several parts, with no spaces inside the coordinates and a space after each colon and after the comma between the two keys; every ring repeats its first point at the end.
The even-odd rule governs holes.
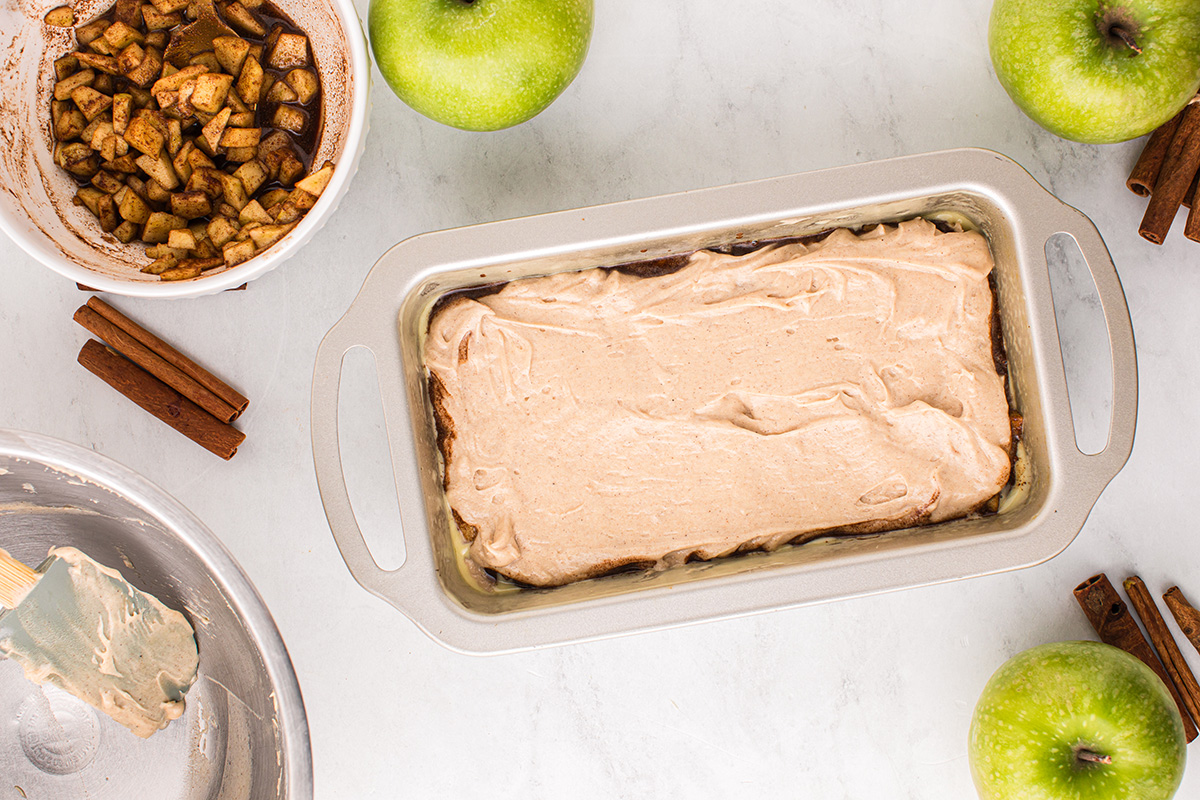
{"type": "Polygon", "coordinates": [[[533,118],[578,74],[592,0],[371,0],[376,64],[401,100],[468,131],[533,118]]]}

